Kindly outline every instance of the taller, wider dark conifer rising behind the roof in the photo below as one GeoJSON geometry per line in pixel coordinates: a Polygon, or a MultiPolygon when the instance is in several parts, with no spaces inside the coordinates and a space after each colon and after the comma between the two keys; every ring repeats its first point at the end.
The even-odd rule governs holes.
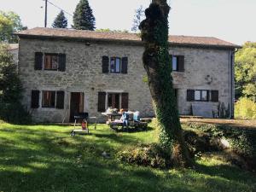
{"type": "Polygon", "coordinates": [[[80,0],[73,14],[73,28],[79,30],[95,30],[95,17],[87,0],[80,0]]]}

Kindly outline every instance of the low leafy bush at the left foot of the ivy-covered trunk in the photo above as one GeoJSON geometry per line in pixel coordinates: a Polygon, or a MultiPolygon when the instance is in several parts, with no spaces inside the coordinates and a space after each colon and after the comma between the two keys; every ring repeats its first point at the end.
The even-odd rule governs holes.
{"type": "Polygon", "coordinates": [[[161,169],[172,165],[171,153],[161,148],[158,143],[141,144],[133,148],[127,148],[117,154],[117,159],[138,166],[151,166],[161,169]]]}

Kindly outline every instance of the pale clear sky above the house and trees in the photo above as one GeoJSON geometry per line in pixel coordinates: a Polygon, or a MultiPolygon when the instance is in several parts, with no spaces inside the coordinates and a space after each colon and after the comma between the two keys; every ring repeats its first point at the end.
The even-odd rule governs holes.
{"type": "MultiPolygon", "coordinates": [[[[70,15],[79,0],[49,0],[70,15]]],[[[256,42],[256,0],[167,0],[171,6],[169,33],[221,38],[234,44],[256,42]],[[254,19],[254,20],[253,20],[254,19]]],[[[150,0],[89,0],[96,28],[131,30],[135,9],[150,0]]],[[[0,10],[14,11],[29,28],[44,26],[44,0],[0,0],[0,10]]],[[[48,4],[48,26],[60,9],[48,4]]]]}

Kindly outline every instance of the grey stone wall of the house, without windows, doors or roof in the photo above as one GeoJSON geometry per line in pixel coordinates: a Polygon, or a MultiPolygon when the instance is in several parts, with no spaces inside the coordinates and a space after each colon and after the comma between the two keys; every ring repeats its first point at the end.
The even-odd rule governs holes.
{"type": "MultiPolygon", "coordinates": [[[[184,72],[173,72],[177,103],[181,114],[190,114],[191,105],[212,108],[217,112],[218,102],[187,102],[187,90],[218,90],[218,100],[232,107],[233,90],[230,88],[231,49],[170,47],[170,54],[184,55],[184,72]]],[[[114,42],[67,41],[57,39],[20,38],[19,71],[24,87],[23,104],[38,122],[67,122],[72,92],[84,93],[84,112],[102,119],[97,112],[98,92],[129,93],[129,110],[140,111],[142,116],[154,116],[148,85],[143,82],[143,46],[114,42]],[[66,54],[66,71],[34,70],[35,52],[66,54]],[[102,56],[127,56],[128,73],[102,73],[102,56]],[[32,90],[65,91],[64,109],[31,108],[32,90]]],[[[107,98],[106,98],[107,100],[107,98]]]]}

